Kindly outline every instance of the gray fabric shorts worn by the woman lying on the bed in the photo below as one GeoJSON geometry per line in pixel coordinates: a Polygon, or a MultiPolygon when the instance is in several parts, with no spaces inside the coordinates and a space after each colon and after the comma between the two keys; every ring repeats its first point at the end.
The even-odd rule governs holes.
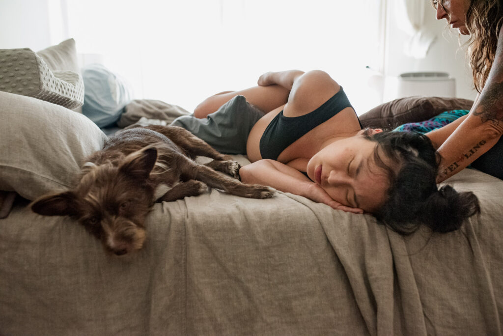
{"type": "Polygon", "coordinates": [[[171,126],[185,128],[220,153],[246,155],[248,134],[263,116],[264,112],[246,102],[244,96],[236,96],[206,119],[181,116],[171,126]]]}

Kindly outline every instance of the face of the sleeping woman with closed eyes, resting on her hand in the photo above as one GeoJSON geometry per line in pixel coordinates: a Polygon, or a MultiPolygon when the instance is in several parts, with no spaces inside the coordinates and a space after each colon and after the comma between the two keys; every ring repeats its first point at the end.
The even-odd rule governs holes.
{"type": "Polygon", "coordinates": [[[375,212],[389,188],[386,173],[374,161],[376,146],[361,132],[332,142],[309,160],[307,175],[334,201],[375,212]]]}

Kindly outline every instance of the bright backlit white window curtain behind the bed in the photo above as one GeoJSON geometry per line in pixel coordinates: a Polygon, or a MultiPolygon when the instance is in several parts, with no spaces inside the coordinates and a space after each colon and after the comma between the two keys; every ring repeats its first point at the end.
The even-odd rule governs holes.
{"type": "Polygon", "coordinates": [[[386,0],[60,1],[78,52],[127,78],[135,98],[192,110],[263,72],[298,68],[327,71],[358,113],[380,103],[366,67],[382,70],[386,0]]]}

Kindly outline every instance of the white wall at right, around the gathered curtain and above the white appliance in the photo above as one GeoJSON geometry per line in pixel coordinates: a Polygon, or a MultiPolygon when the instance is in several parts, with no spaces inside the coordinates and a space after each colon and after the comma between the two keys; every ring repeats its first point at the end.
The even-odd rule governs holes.
{"type": "MultiPolygon", "coordinates": [[[[397,25],[395,8],[390,2],[387,10],[387,43],[385,73],[396,76],[402,72],[412,71],[442,71],[456,78],[456,96],[474,99],[476,91],[472,89],[471,70],[465,61],[465,47],[460,49],[457,30],[446,29],[445,20],[436,20],[435,10],[429,1],[423,1],[426,8],[425,24],[429,31],[435,32],[437,38],[433,42],[427,56],[415,59],[403,52],[403,43],[409,37],[397,25]]],[[[463,37],[464,38],[464,37],[463,37]]],[[[464,38],[463,42],[466,40],[464,38]]]]}

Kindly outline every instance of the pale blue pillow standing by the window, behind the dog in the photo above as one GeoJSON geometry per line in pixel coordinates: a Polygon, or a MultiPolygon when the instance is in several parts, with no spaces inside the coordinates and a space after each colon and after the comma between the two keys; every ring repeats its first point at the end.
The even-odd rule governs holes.
{"type": "Polygon", "coordinates": [[[82,68],[84,105],[82,113],[99,127],[119,120],[124,107],[131,101],[131,90],[115,73],[102,64],[82,68]]]}

